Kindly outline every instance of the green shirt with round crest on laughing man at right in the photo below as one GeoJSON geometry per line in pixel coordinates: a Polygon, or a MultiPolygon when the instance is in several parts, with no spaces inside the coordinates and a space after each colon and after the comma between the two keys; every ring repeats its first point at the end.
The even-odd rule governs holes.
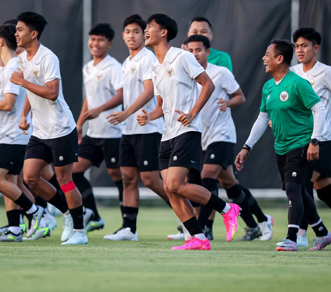
{"type": "Polygon", "coordinates": [[[278,85],[274,79],[264,84],[260,111],[272,120],[277,154],[309,144],[314,127],[310,108],[319,101],[310,83],[292,71],[278,85]]]}

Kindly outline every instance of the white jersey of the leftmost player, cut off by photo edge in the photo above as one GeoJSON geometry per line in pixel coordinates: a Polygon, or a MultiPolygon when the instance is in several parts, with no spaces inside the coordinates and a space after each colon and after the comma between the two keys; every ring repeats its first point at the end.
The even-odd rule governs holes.
{"type": "MultiPolygon", "coordinates": [[[[31,130],[26,130],[28,135],[24,135],[19,128],[19,120],[26,100],[26,90],[10,82],[10,76],[14,71],[17,71],[17,57],[10,59],[6,67],[0,72],[0,101],[5,99],[6,93],[16,95],[14,108],[11,112],[0,110],[0,144],[26,145],[29,142],[31,130]]],[[[30,122],[29,118],[28,123],[30,122]]]]}

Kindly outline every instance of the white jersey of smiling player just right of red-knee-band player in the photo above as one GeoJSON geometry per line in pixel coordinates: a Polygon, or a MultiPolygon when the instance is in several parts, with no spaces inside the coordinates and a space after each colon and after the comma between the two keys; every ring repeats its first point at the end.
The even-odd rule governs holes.
{"type": "MultiPolygon", "coordinates": [[[[122,65],[107,55],[94,66],[94,60],[89,61],[83,67],[84,84],[88,109],[97,108],[117,95],[117,90],[123,88],[122,65]]],[[[114,126],[108,122],[106,117],[111,113],[121,111],[122,105],[100,113],[99,117],[88,121],[88,132],[86,135],[92,138],[120,138],[123,123],[114,126]]]]}

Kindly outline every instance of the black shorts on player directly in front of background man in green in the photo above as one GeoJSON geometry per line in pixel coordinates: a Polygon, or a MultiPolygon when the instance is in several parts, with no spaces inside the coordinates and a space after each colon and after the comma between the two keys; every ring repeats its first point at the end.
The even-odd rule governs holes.
{"type": "Polygon", "coordinates": [[[233,163],[234,143],[214,142],[203,151],[203,164],[217,164],[224,169],[233,163]]]}

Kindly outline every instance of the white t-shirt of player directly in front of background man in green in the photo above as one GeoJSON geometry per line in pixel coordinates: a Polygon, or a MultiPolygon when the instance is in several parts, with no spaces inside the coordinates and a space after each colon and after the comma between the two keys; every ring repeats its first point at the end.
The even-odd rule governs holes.
{"type": "MultiPolygon", "coordinates": [[[[202,150],[214,142],[237,143],[236,127],[231,116],[231,108],[222,112],[217,107],[219,98],[228,100],[232,93],[239,89],[239,84],[228,68],[208,63],[205,72],[215,85],[212,96],[201,110],[202,117],[202,150]]],[[[202,86],[198,84],[199,92],[202,86]]]]}

